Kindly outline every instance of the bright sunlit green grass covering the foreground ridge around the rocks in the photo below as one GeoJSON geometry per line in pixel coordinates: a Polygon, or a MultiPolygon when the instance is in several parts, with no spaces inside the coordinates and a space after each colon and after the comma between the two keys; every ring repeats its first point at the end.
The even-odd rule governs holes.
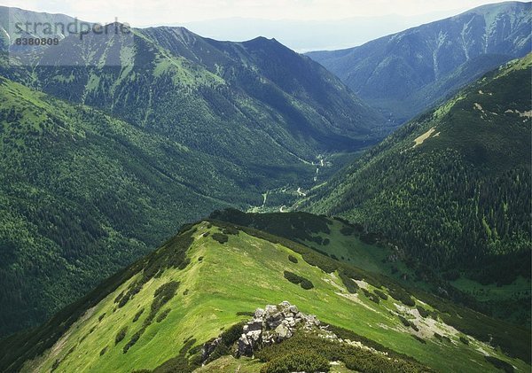
{"type": "MultiPolygon", "coordinates": [[[[196,227],[197,230],[190,230],[191,227],[184,228],[184,231],[189,229],[189,232],[193,232],[194,236],[192,247],[187,252],[187,258],[191,261],[186,268],[167,268],[160,271],[159,276],[152,277],[145,283],[143,288],[123,307],[117,307],[114,300],[122,291],[126,291],[131,284],[134,284],[139,276],[142,276],[138,270],[147,268],[145,266],[151,261],[149,258],[153,259],[172,249],[171,241],[168,241],[168,244],[158,252],[138,262],[136,267],[129,268],[119,279],[121,283],[114,282],[112,286],[109,285],[109,291],[98,294],[96,302],[85,303],[84,307],[78,308],[77,317],[74,316],[71,319],[74,323],[69,325],[57,320],[56,322],[63,325],[63,329],[55,338],[57,340],[61,335],[66,338],[61,338],[59,345],[56,344],[56,347],[48,350],[41,358],[27,362],[24,370],[36,369],[36,367],[50,369],[58,360],[59,371],[62,369],[66,371],[88,369],[90,371],[90,367],[114,371],[153,369],[176,356],[179,349],[184,346],[184,341],[190,339],[191,336],[199,342],[207,341],[209,338],[216,337],[221,328],[246,319],[246,316],[239,316],[237,313],[284,299],[298,305],[302,312],[317,315],[323,322],[353,330],[358,335],[375,340],[396,352],[411,355],[435,369],[444,370],[450,367],[454,369],[467,367],[471,371],[491,369],[489,363],[484,361],[475,350],[476,346],[484,346],[489,349],[489,354],[509,361],[496,350],[485,345],[477,345],[478,342],[473,338],[472,346],[465,347],[457,342],[456,346],[453,344],[454,348],[444,348],[443,351],[442,346],[434,342],[432,338],[426,340],[426,345],[416,342],[408,332],[405,334],[403,330],[395,330],[395,328],[401,328],[399,326],[401,321],[396,316],[388,315],[388,308],[395,309],[394,299],[388,297],[387,300],[382,300],[377,305],[372,300],[365,299],[364,296],[360,296],[357,302],[340,296],[337,292],[348,294],[340,280],[335,276],[326,275],[317,267],[310,266],[305,261],[304,255],[301,257],[299,253],[301,250],[311,252],[305,246],[295,243],[286,244],[288,241],[282,238],[276,238],[274,241],[265,240],[264,238],[272,237],[249,229],[240,231],[238,235],[228,235],[229,241],[219,244],[210,237],[212,234],[208,236],[204,234],[207,231],[219,232],[221,229],[218,229],[216,225],[201,222],[196,227]],[[247,232],[254,236],[249,236],[247,232]],[[255,235],[266,236],[258,238],[255,235]],[[282,240],[280,242],[283,244],[278,243],[278,240],[282,240]],[[296,248],[297,252],[286,247],[285,244],[296,248]],[[288,255],[299,258],[298,263],[288,260],[288,255]],[[199,260],[200,257],[201,260],[199,260]],[[299,285],[290,284],[284,278],[283,271],[296,268],[301,276],[312,281],[315,285],[314,289],[304,290],[299,285]],[[254,282],[249,281],[250,275],[253,275],[254,282]],[[149,308],[154,291],[161,284],[167,284],[170,281],[178,281],[180,284],[176,296],[163,307],[170,309],[167,317],[161,322],[153,322],[148,326],[137,343],[129,349],[127,354],[124,354],[122,345],[128,342],[147,317],[145,311],[137,322],[132,322],[134,316],[139,309],[149,308]],[[344,290],[341,290],[342,288],[344,290]],[[86,313],[88,309],[90,312],[86,313]],[[114,312],[113,309],[115,309],[114,312]],[[85,317],[80,317],[83,314],[85,317]],[[104,314],[105,316],[102,317],[104,314]],[[129,328],[125,338],[117,346],[113,346],[117,331],[126,325],[129,328]],[[170,340],[172,342],[169,342],[170,340]],[[100,351],[105,347],[107,347],[105,354],[100,356],[100,351]],[[72,348],[75,354],[68,354],[72,348]],[[471,365],[471,359],[476,361],[475,365],[471,365]]],[[[324,257],[324,260],[329,259],[324,257]]],[[[371,276],[365,277],[371,278],[371,276]]],[[[372,284],[371,280],[367,281],[372,284]]],[[[368,286],[373,288],[371,285],[368,286]]],[[[53,330],[51,324],[49,324],[48,331],[50,329],[53,330]]],[[[18,353],[23,353],[28,346],[41,340],[43,338],[41,333],[34,334],[40,334],[40,338],[33,339],[34,342],[20,338],[20,345],[18,345],[20,350],[12,349],[12,354],[17,354],[17,350],[18,353]]],[[[13,342],[12,339],[11,343],[13,342]]],[[[13,346],[17,345],[13,343],[13,346]]],[[[39,344],[36,346],[43,348],[39,344]]],[[[38,354],[41,354],[43,350],[38,354]]],[[[37,351],[34,350],[34,353],[37,351]]],[[[23,354],[23,356],[19,362],[32,355],[23,354]]],[[[526,369],[522,362],[510,361],[518,368],[526,369]]]]}

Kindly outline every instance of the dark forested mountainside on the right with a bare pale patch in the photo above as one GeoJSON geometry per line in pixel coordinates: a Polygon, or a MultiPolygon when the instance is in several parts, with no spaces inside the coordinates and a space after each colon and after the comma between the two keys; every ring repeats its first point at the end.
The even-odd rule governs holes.
{"type": "Polygon", "coordinates": [[[464,290],[529,289],[531,66],[512,61],[412,120],[301,208],[379,231],[464,290]]]}

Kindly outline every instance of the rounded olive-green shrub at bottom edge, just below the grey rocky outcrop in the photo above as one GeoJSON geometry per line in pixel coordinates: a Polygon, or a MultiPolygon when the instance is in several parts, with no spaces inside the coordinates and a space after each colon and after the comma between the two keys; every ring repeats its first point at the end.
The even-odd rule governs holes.
{"type": "Polygon", "coordinates": [[[329,361],[325,357],[307,351],[296,351],[267,362],[261,373],[328,372],[329,361]]]}

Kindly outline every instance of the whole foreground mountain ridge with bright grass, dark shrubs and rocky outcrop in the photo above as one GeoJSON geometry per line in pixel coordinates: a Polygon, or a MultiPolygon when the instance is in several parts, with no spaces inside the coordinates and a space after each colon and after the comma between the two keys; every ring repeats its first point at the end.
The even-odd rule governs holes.
{"type": "Polygon", "coordinates": [[[5,339],[0,351],[4,371],[274,372],[317,364],[337,372],[485,372],[526,371],[530,359],[527,330],[215,220],[184,227],[43,326],[5,339]],[[265,307],[283,301],[297,308],[265,307]],[[231,357],[235,345],[247,348],[242,338],[257,335],[264,315],[271,329],[259,326],[255,359],[231,357]],[[291,318],[312,322],[295,329],[291,318]],[[283,337],[270,345],[268,333],[283,337]]]}

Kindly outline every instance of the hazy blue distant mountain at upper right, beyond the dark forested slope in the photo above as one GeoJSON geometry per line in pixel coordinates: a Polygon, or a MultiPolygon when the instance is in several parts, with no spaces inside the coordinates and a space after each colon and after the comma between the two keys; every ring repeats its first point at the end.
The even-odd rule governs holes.
{"type": "Polygon", "coordinates": [[[483,5],[356,48],[308,56],[401,124],[532,51],[530,4],[483,5]]]}

